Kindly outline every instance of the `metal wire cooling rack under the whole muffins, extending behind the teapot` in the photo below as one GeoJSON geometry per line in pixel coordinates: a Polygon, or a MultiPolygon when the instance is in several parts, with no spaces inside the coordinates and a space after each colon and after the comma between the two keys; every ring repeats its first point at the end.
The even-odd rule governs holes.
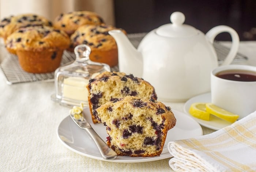
{"type": "MultiPolygon", "coordinates": [[[[142,38],[146,35],[146,33],[134,33],[128,34],[128,38],[131,43],[137,48],[142,38]]],[[[229,52],[229,48],[223,46],[219,42],[214,43],[214,48],[217,52],[219,63],[225,59],[227,53],[229,52]]],[[[19,65],[18,57],[9,53],[5,48],[4,44],[0,44],[0,59],[3,61],[0,64],[0,68],[3,71],[7,84],[17,84],[17,83],[27,83],[27,82],[36,82],[36,81],[54,81],[54,72],[51,73],[29,73],[23,71],[23,69],[19,65]]],[[[237,53],[234,62],[245,61],[248,58],[241,53],[237,53]]],[[[68,63],[72,63],[75,60],[75,53],[64,51],[61,66],[66,65],[68,63]]],[[[118,67],[113,67],[112,71],[118,71],[118,67]]]]}

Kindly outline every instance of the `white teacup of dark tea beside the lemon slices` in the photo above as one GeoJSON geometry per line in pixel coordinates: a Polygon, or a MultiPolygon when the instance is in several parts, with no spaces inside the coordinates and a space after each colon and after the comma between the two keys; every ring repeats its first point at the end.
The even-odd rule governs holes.
{"type": "Polygon", "coordinates": [[[212,70],[211,103],[239,115],[238,119],[256,111],[256,67],[249,65],[226,65],[212,70]],[[242,74],[234,75],[235,71],[242,74]],[[225,73],[233,73],[229,77],[240,80],[244,80],[244,75],[248,78],[248,74],[251,74],[254,75],[255,81],[222,79],[221,77],[225,73]]]}

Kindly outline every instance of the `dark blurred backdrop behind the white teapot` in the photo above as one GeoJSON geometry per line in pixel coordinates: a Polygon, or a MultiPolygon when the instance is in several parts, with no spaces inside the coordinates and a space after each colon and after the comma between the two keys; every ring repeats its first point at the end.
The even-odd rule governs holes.
{"type": "MultiPolygon", "coordinates": [[[[148,32],[170,23],[175,11],[184,13],[185,24],[206,33],[217,25],[235,29],[240,40],[256,40],[256,0],[116,0],[117,27],[128,32],[148,32]]],[[[231,40],[221,33],[217,40],[231,40]]]]}

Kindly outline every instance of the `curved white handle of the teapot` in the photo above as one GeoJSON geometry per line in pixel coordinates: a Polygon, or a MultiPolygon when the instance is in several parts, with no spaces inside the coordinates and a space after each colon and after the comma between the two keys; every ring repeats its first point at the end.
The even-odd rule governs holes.
{"type": "Polygon", "coordinates": [[[213,44],[215,37],[219,33],[222,33],[222,32],[228,32],[232,39],[232,45],[231,45],[230,51],[222,63],[222,65],[228,65],[232,62],[232,60],[236,56],[238,48],[239,48],[240,40],[239,40],[239,36],[238,36],[237,32],[231,27],[228,27],[225,25],[219,25],[219,26],[216,26],[216,27],[210,29],[210,31],[208,31],[206,33],[206,37],[208,37],[209,41],[213,44]]]}

